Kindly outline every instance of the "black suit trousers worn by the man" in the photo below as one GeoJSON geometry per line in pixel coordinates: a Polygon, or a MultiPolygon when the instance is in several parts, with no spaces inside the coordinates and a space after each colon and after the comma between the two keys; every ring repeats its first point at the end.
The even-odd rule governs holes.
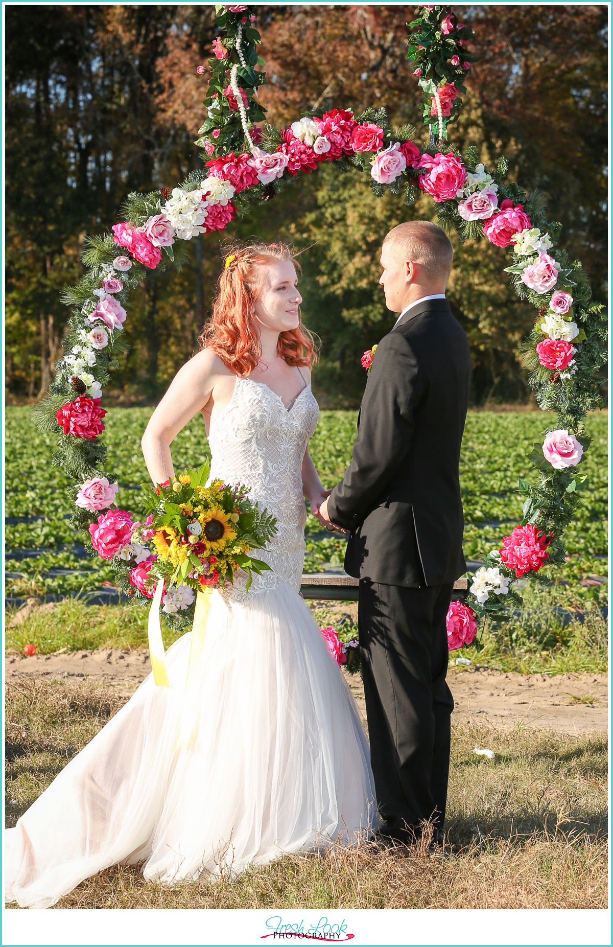
{"type": "Polygon", "coordinates": [[[442,830],[450,716],[446,616],[453,585],[359,581],[359,647],[379,812],[389,830],[442,830]]]}

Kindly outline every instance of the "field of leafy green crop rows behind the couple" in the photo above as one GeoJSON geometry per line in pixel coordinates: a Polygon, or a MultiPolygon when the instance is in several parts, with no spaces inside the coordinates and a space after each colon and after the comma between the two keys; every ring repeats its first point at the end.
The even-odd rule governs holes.
{"type": "MultiPolygon", "coordinates": [[[[117,504],[139,512],[138,486],[148,480],[140,438],[150,408],[113,408],[105,419],[108,469],[118,476],[117,504]]],[[[520,476],[530,478],[526,457],[552,416],[541,412],[470,412],[466,421],[461,480],[464,496],[464,553],[479,560],[520,517],[520,476]]],[[[356,413],[324,411],[310,450],[324,486],[338,482],[351,456],[356,413]]],[[[556,600],[585,606],[604,604],[606,576],[606,416],[587,421],[592,443],[582,469],[589,476],[578,519],[567,535],[569,561],[556,570],[556,600]]],[[[38,432],[27,407],[9,407],[6,420],[7,595],[67,595],[99,589],[113,575],[108,563],[84,557],[83,538],[68,526],[66,478],[51,464],[54,438],[38,432]],[[15,522],[18,521],[18,522],[15,522]],[[79,548],[80,547],[80,548],[79,548]],[[35,556],[28,551],[36,551],[35,556]]],[[[208,446],[198,417],[172,445],[175,470],[199,463],[208,446]]],[[[305,570],[342,563],[342,537],[322,535],[308,518],[305,570]]]]}

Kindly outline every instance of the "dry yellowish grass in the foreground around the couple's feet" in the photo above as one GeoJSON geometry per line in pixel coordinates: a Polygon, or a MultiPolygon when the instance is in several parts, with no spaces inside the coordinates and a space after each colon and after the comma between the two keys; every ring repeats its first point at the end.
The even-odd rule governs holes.
{"type": "MultiPolygon", "coordinates": [[[[19,815],[131,691],[18,679],[7,694],[7,816],[19,815]]],[[[606,740],[456,724],[442,858],[424,847],[288,855],[237,880],[144,882],[112,867],[59,908],[604,908],[606,740]],[[488,760],[475,746],[496,753],[488,760]]]]}

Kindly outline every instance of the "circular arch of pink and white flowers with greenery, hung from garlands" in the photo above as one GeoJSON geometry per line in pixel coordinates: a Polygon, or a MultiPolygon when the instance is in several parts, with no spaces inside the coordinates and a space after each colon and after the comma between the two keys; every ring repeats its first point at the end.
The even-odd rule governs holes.
{"type": "MultiPolygon", "coordinates": [[[[171,191],[130,194],[113,233],[86,240],[86,273],[64,292],[73,309],[65,354],[55,366],[50,396],[36,410],[39,424],[58,435],[54,463],[73,481],[72,522],[87,531],[97,554],[113,561],[120,588],[137,599],[151,597],[150,530],[114,507],[116,477],[105,473],[106,448],[99,439],[107,413],[102,389],[127,348],[123,323],[130,290],[148,269],[181,262],[186,241],[196,234],[221,231],[254,200],[269,199],[282,178],[333,162],[367,173],[377,197],[389,190],[412,205],[422,190],[436,205],[437,221],[462,241],[485,239],[507,248],[504,272],[517,296],[537,310],[523,360],[536,401],[556,413],[556,426],[534,445],[534,476],[519,480],[526,498],[521,523],[488,554],[468,597],[478,616],[502,617],[516,596],[517,579],[536,576],[545,561],[564,562],[564,529],[587,483],[581,469],[589,446],[585,417],[602,403],[595,377],[606,358],[604,307],[591,302],[581,262],[570,261],[559,247],[561,224],[548,220],[542,195],[509,181],[504,157],[486,169],[476,148],[460,153],[447,142],[447,128],[462,105],[463,80],[479,58],[467,48],[472,30],[450,7],[422,6],[408,25],[407,59],[429,126],[426,149],[413,140],[410,126],[391,128],[384,109],[358,116],[344,109],[315,112],[285,129],[266,123],[256,98],[266,76],[257,68],[264,62],[255,48],[255,9],[216,8],[219,37],[204,99],[208,116],[196,141],[205,152],[205,172],[192,172],[171,191]]],[[[204,67],[197,71],[204,73],[204,67]]],[[[473,615],[462,608],[450,613],[447,630],[450,647],[460,647],[474,636],[473,615]]]]}

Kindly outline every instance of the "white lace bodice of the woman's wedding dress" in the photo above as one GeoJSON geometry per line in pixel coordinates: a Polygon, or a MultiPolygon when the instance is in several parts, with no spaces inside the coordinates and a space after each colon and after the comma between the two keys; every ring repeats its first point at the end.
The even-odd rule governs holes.
{"type": "Polygon", "coordinates": [[[234,587],[223,593],[224,598],[244,601],[280,582],[296,591],[300,588],[307,522],[302,463],[318,419],[319,408],[310,385],[286,408],[267,384],[236,378],[230,402],[211,421],[209,482],[220,477],[226,483],[251,487],[251,498],[277,519],[271,544],[254,550],[255,558],[268,563],[272,571],[254,574],[246,594],[246,576],[239,570],[234,587]]]}

